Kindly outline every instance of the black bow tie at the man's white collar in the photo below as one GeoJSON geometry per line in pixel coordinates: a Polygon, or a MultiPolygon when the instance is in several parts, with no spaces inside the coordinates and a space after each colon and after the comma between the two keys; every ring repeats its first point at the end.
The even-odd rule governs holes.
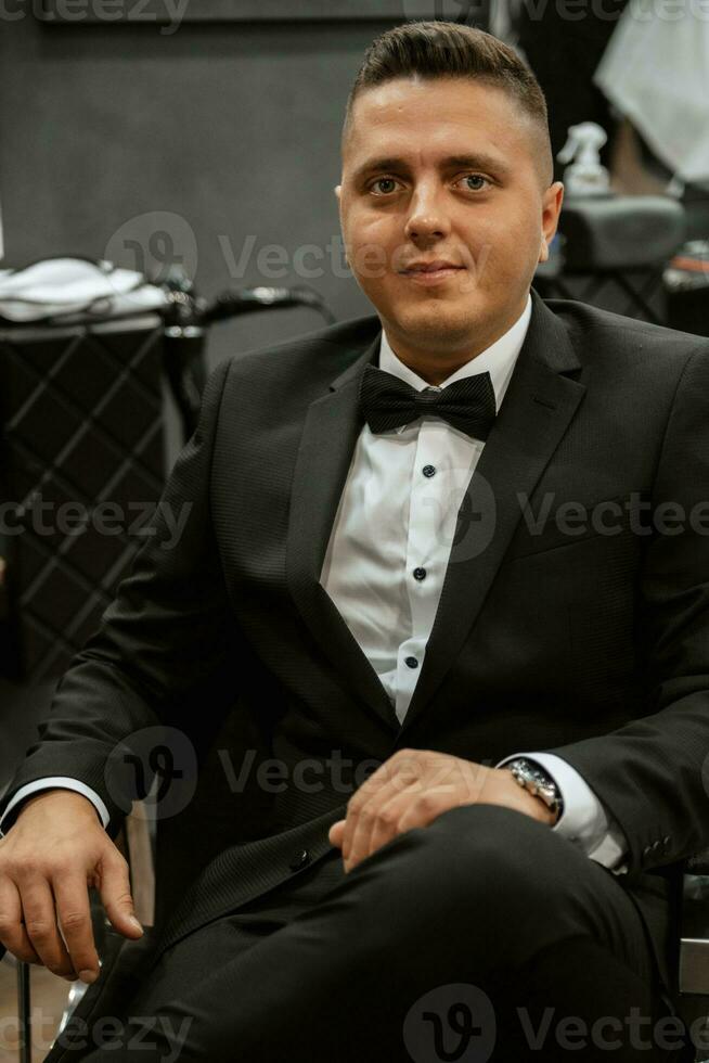
{"type": "Polygon", "coordinates": [[[494,388],[489,373],[477,373],[440,390],[417,392],[369,363],[360,384],[360,408],[372,432],[398,428],[433,413],[474,439],[487,439],[495,415],[494,388]]]}

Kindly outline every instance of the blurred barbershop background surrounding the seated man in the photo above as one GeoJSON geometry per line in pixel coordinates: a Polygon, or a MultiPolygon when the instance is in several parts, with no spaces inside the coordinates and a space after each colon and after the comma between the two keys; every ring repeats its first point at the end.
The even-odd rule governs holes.
{"type": "MultiPolygon", "coordinates": [[[[206,373],[373,311],[344,261],[339,135],[366,46],[411,18],[487,29],[541,82],[566,198],[540,294],[709,335],[701,0],[0,0],[0,790],[206,373]]],[[[66,989],[34,977],[51,1034],[66,989]]]]}

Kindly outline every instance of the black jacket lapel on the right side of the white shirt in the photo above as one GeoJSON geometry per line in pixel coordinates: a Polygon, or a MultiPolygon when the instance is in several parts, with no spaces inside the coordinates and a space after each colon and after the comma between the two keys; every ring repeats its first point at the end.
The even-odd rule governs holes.
{"type": "Polygon", "coordinates": [[[459,509],[434,628],[397,742],[455,662],[480,612],[529,496],[585,386],[567,330],[532,289],[532,316],[507,392],[459,509]]]}

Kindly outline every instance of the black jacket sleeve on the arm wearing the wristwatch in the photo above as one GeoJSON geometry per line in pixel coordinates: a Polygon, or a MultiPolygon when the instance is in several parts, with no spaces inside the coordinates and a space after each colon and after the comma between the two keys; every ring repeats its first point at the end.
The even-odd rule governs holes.
{"type": "Polygon", "coordinates": [[[709,844],[709,344],[688,357],[657,462],[637,587],[647,715],[550,750],[628,841],[628,874],[709,844]]]}

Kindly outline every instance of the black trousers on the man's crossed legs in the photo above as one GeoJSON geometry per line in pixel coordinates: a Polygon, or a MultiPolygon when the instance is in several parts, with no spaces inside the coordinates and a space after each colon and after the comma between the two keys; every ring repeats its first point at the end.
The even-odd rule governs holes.
{"type": "Polygon", "coordinates": [[[99,1003],[85,1023],[64,1032],[67,1063],[626,1063],[685,1051],[616,876],[491,805],[452,809],[347,875],[333,850],[178,942],[120,1014],[99,1003]]]}

